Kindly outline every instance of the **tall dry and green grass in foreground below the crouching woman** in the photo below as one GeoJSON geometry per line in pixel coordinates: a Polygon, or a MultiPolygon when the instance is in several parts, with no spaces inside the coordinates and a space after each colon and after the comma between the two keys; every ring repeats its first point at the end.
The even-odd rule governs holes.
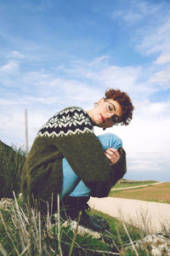
{"type": "MultiPolygon", "coordinates": [[[[129,236],[136,241],[144,237],[144,232],[127,225],[127,233],[124,224],[115,218],[94,210],[91,214],[98,214],[110,223],[111,232],[102,234],[104,240],[80,236],[70,226],[63,226],[62,221],[52,224],[49,216],[42,219],[36,210],[29,210],[22,201],[15,201],[0,211],[0,255],[106,256],[121,252],[121,255],[138,255],[133,250],[125,253],[125,247],[130,244],[129,236]],[[71,245],[74,245],[72,249],[71,245]]],[[[139,255],[148,254],[143,251],[139,255]]]]}

